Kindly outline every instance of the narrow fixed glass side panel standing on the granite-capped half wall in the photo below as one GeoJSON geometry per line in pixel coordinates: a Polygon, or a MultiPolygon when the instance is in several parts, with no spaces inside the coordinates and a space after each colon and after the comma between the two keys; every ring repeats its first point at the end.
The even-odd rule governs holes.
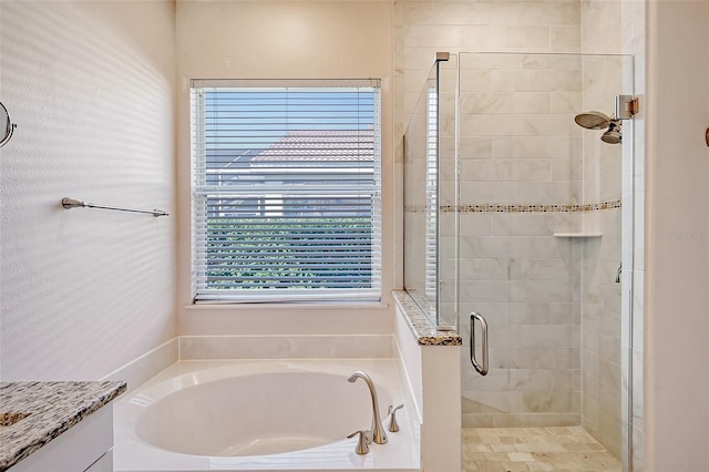
{"type": "Polygon", "coordinates": [[[440,329],[458,327],[458,258],[441,270],[442,242],[456,240],[458,215],[444,212],[458,202],[456,65],[435,61],[404,134],[404,288],[440,329]]]}

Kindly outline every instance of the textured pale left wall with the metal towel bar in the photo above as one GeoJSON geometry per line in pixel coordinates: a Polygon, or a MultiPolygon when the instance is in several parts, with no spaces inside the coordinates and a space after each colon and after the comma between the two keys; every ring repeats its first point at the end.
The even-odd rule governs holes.
{"type": "Polygon", "coordinates": [[[174,4],[0,8],[0,376],[96,379],[175,336],[174,4]]]}

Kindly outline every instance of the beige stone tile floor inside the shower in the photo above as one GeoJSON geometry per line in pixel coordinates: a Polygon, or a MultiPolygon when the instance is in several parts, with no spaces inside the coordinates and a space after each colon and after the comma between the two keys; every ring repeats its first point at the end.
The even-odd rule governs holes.
{"type": "Polygon", "coordinates": [[[620,472],[620,462],[582,427],[463,428],[463,472],[620,472]]]}

